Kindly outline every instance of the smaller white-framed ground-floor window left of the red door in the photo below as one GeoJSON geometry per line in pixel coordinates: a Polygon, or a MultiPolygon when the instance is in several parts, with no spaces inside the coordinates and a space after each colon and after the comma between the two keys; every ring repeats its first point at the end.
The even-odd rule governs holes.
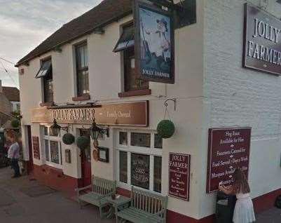
{"type": "Polygon", "coordinates": [[[56,168],[61,168],[62,165],[62,144],[60,134],[58,136],[51,135],[50,127],[43,127],[45,157],[46,163],[56,168]]]}

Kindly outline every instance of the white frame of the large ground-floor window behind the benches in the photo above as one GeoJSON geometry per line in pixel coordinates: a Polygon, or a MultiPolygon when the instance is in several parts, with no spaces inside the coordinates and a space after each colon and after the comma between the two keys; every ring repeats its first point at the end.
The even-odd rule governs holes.
{"type": "MultiPolygon", "coordinates": [[[[123,189],[128,189],[130,190],[132,186],[146,190],[142,187],[137,187],[135,185],[131,184],[131,154],[144,154],[144,155],[149,155],[150,157],[150,163],[149,163],[149,191],[156,193],[156,194],[162,194],[163,193],[163,175],[161,176],[161,193],[158,193],[154,191],[154,156],[160,156],[162,158],[163,154],[163,149],[157,149],[154,148],[154,135],[156,132],[148,132],[148,131],[140,131],[140,130],[117,130],[117,137],[116,137],[116,180],[117,180],[117,186],[121,187],[123,189]],[[127,145],[119,144],[119,137],[120,137],[120,132],[125,132],[128,134],[128,143],[127,145]],[[131,146],[131,133],[148,133],[151,135],[150,137],[150,145],[151,147],[135,147],[131,146]],[[120,157],[119,157],[119,151],[125,151],[127,152],[127,183],[121,182],[120,181],[120,157]]],[[[162,168],[161,168],[162,170],[162,168]]]]}

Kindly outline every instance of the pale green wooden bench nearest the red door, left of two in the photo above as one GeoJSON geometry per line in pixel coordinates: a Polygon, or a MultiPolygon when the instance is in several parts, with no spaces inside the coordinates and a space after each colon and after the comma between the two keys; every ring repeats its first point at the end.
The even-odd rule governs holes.
{"type": "Polygon", "coordinates": [[[80,207],[82,207],[81,201],[95,205],[100,208],[100,217],[104,218],[108,212],[102,212],[102,208],[109,205],[109,203],[103,198],[111,196],[111,194],[116,194],[116,181],[92,176],[92,184],[87,187],[78,188],[76,192],[80,207]],[[91,190],[87,191],[87,189],[91,190]]]}

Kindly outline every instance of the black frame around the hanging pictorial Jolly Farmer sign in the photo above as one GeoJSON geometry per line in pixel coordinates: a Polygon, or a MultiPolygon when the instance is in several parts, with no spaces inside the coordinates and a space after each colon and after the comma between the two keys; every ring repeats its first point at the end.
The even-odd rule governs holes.
{"type": "Polygon", "coordinates": [[[133,1],[133,16],[135,21],[135,69],[137,71],[137,75],[139,79],[143,79],[146,81],[160,82],[160,83],[174,83],[174,24],[173,24],[173,15],[171,11],[164,11],[161,8],[151,4],[146,4],[141,0],[133,1]],[[160,77],[152,77],[151,75],[142,74],[141,71],[141,37],[140,37],[140,18],[139,18],[139,8],[144,8],[147,11],[151,11],[153,13],[158,13],[163,16],[170,18],[170,77],[169,78],[160,78],[160,77]]]}

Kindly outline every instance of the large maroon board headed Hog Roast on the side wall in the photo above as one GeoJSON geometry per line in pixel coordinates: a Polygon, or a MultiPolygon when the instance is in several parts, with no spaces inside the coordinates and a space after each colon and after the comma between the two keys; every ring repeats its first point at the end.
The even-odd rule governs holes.
{"type": "Polygon", "coordinates": [[[207,193],[232,184],[236,168],[248,175],[250,142],[251,128],[209,130],[207,193]]]}

